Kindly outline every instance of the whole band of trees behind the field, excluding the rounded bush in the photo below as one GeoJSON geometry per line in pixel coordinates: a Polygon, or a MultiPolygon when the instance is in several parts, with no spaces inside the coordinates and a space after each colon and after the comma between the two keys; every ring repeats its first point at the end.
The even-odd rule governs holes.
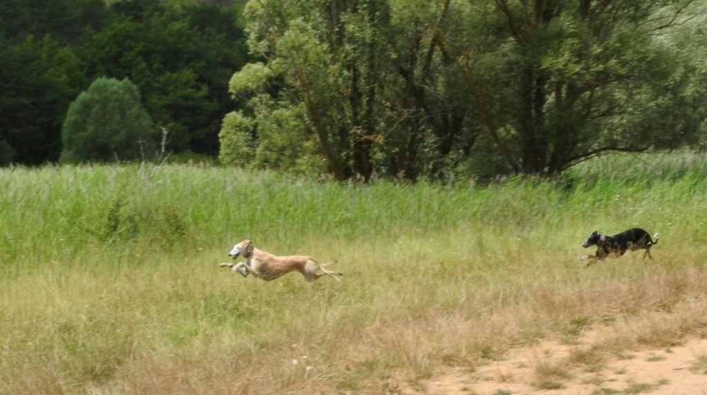
{"type": "Polygon", "coordinates": [[[0,165],[57,162],[100,77],[173,158],[339,180],[702,149],[705,25],[705,0],[0,0],[0,165]]]}

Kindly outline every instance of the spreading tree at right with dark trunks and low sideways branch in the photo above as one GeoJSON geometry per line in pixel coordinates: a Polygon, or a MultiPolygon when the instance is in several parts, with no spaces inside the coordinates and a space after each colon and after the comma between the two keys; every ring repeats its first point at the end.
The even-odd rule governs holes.
{"type": "Polygon", "coordinates": [[[689,19],[691,3],[494,0],[445,49],[513,171],[553,175],[673,137],[643,120],[676,94],[665,86],[677,62],[660,35],[689,19]]]}

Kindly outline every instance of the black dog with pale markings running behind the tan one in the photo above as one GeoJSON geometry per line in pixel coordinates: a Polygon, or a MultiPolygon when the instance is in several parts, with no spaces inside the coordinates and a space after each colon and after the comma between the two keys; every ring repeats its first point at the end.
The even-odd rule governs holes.
{"type": "Polygon", "coordinates": [[[650,238],[648,232],[641,228],[633,228],[626,230],[626,232],[621,232],[618,235],[606,236],[601,235],[598,232],[592,233],[587,237],[587,241],[582,244],[582,247],[592,247],[592,245],[597,246],[596,255],[588,255],[582,259],[590,259],[587,266],[595,264],[596,261],[603,261],[606,257],[618,258],[625,254],[626,251],[636,251],[637,249],[645,249],[643,254],[643,259],[646,256],[653,259],[650,256],[650,246],[658,242],[658,233],[656,233],[655,242],[650,238]]]}

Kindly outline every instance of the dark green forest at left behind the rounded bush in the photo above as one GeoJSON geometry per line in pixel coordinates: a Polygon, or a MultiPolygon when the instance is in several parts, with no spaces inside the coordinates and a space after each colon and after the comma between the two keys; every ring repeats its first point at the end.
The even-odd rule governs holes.
{"type": "Polygon", "coordinates": [[[0,165],[55,162],[69,104],[95,78],[138,86],[168,148],[218,154],[248,59],[238,1],[0,1],[0,165]]]}

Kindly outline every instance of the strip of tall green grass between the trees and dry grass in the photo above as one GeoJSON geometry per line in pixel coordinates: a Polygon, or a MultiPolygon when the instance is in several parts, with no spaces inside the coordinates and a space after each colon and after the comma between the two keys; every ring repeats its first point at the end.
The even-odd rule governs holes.
{"type": "Polygon", "coordinates": [[[604,232],[655,223],[662,232],[678,225],[671,217],[705,220],[694,211],[707,188],[704,162],[690,153],[604,158],[562,179],[488,187],[341,185],[219,167],[14,168],[0,170],[0,259],[4,268],[25,264],[28,245],[69,263],[83,249],[115,252],[116,244],[147,242],[161,253],[223,248],[245,237],[283,247],[310,235],[390,242],[460,226],[542,232],[566,221],[604,232]]]}

